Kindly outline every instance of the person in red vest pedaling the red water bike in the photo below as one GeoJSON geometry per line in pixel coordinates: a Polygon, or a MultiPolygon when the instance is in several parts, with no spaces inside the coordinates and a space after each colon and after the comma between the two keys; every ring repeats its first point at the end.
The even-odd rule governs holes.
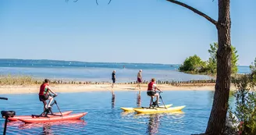
{"type": "Polygon", "coordinates": [[[49,83],[50,83],[50,80],[45,79],[44,83],[41,84],[40,91],[39,91],[39,94],[38,94],[39,95],[39,100],[44,103],[44,111],[45,111],[45,108],[52,108],[51,104],[52,104],[52,101],[53,101],[53,97],[49,96],[49,91],[52,94],[55,94],[55,96],[58,95],[54,91],[52,91],[52,89],[49,87],[49,83]],[[50,100],[48,102],[48,105],[47,105],[47,102],[46,102],[47,100],[50,100]]]}

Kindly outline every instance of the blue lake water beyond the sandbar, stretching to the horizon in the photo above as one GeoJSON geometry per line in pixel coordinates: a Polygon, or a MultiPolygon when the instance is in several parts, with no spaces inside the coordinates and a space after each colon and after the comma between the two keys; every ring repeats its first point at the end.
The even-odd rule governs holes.
{"type": "MultiPolygon", "coordinates": [[[[178,71],[180,65],[152,63],[73,62],[55,60],[0,59],[0,75],[29,75],[52,80],[81,80],[112,82],[116,70],[116,83],[137,80],[139,69],[143,80],[155,77],[162,81],[211,80],[211,76],[192,75],[178,71]]],[[[238,73],[250,73],[249,66],[238,66],[238,73]]],[[[215,78],[213,78],[215,79],[215,78]]]]}

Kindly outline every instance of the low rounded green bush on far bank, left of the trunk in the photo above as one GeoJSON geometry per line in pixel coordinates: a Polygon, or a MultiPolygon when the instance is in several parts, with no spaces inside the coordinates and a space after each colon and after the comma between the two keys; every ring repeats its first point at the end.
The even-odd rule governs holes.
{"type": "Polygon", "coordinates": [[[190,71],[190,72],[201,72],[202,69],[206,66],[206,62],[202,61],[201,58],[197,55],[190,56],[187,58],[183,65],[180,66],[180,71],[190,71]]]}

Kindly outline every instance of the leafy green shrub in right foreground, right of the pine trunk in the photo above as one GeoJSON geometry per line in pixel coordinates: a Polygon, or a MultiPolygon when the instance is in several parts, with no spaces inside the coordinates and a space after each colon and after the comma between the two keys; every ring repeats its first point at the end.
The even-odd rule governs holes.
{"type": "MultiPolygon", "coordinates": [[[[229,108],[229,112],[232,112],[239,119],[240,134],[256,134],[256,93],[253,91],[254,76],[256,67],[256,59],[254,64],[250,66],[251,73],[242,75],[238,78],[233,78],[236,91],[233,94],[236,98],[235,111],[232,112],[229,108]]],[[[233,119],[229,115],[229,119],[233,119]]],[[[233,119],[234,120],[234,119],[233,119]]],[[[237,122],[235,120],[235,122],[237,122]]]]}

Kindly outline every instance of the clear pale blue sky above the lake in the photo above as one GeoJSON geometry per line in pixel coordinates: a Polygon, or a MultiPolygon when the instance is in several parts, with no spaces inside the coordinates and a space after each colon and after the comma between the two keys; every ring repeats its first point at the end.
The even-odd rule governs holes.
{"type": "MultiPolygon", "coordinates": [[[[180,0],[218,20],[218,1],[180,0]]],[[[1,0],[0,59],[181,64],[208,60],[216,27],[165,0],[1,0]]],[[[256,57],[256,1],[231,1],[240,66],[256,57]]]]}

